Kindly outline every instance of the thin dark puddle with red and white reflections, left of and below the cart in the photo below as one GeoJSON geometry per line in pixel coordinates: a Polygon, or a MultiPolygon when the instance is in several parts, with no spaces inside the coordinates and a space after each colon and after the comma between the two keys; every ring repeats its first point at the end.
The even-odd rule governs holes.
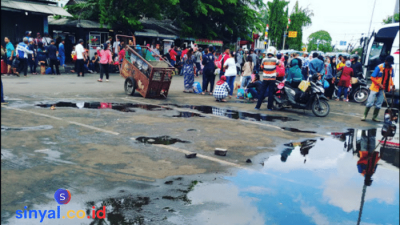
{"type": "Polygon", "coordinates": [[[85,109],[114,109],[121,112],[135,112],[135,108],[144,109],[148,111],[162,111],[162,110],[172,110],[171,108],[156,105],[147,104],[132,104],[132,103],[107,103],[107,102],[58,102],[55,104],[38,104],[36,106],[42,108],[50,108],[55,106],[58,107],[69,107],[69,108],[85,108],[85,109]]]}

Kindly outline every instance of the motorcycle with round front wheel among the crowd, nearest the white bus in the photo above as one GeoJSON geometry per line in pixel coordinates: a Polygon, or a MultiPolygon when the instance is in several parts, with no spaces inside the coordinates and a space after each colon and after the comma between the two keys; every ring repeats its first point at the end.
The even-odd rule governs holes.
{"type": "MultiPolygon", "coordinates": [[[[362,73],[359,73],[358,76],[358,82],[355,84],[351,85],[351,89],[349,91],[349,99],[354,100],[357,103],[364,103],[367,101],[369,97],[369,89],[368,89],[368,84],[367,80],[364,79],[364,76],[362,73]]],[[[337,92],[338,92],[338,87],[335,85],[335,91],[333,93],[333,97],[337,98],[337,92]]]]}

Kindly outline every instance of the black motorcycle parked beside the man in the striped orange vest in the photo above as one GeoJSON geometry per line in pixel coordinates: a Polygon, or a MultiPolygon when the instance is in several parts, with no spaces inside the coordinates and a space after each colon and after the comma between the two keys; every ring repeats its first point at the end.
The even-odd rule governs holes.
{"type": "Polygon", "coordinates": [[[307,109],[312,110],[314,115],[318,117],[325,117],[329,114],[329,100],[324,96],[325,89],[321,82],[310,81],[310,87],[305,92],[291,87],[284,81],[276,81],[276,86],[274,93],[274,107],[276,109],[307,109]]]}

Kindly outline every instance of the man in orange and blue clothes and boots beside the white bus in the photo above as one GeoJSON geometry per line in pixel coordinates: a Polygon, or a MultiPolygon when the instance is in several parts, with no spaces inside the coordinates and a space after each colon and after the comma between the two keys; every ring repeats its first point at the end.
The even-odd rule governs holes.
{"type": "Polygon", "coordinates": [[[382,107],[384,92],[390,92],[395,90],[395,85],[393,83],[393,67],[394,58],[389,55],[385,58],[385,63],[378,65],[374,72],[371,75],[371,90],[367,105],[364,110],[364,116],[361,118],[361,121],[365,121],[368,116],[368,112],[373,105],[375,105],[374,114],[372,117],[372,121],[380,122],[378,120],[379,110],[382,107]],[[376,98],[376,100],[375,100],[376,98]]]}

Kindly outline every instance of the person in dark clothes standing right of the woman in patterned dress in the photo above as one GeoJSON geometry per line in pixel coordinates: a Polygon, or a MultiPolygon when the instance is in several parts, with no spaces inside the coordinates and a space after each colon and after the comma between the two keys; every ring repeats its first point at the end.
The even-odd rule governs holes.
{"type": "MultiPolygon", "coordinates": [[[[207,49],[206,49],[207,51],[207,49]]],[[[203,95],[207,92],[208,84],[210,84],[210,95],[213,94],[214,83],[215,83],[215,64],[214,55],[212,53],[213,47],[208,48],[208,53],[203,58],[203,95]]]]}

